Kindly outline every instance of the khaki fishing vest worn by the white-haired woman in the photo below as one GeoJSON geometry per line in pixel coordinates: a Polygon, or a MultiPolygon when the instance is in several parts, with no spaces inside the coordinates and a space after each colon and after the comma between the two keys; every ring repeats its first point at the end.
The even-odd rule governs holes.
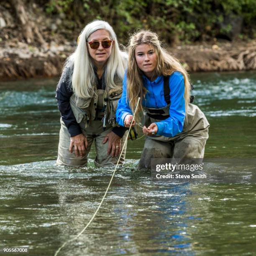
{"type": "Polygon", "coordinates": [[[86,128],[93,120],[101,120],[103,127],[107,124],[116,126],[115,112],[118,100],[122,96],[122,80],[115,78],[116,89],[97,89],[93,87],[93,97],[81,98],[74,93],[70,97],[72,112],[82,129],[86,128]]]}

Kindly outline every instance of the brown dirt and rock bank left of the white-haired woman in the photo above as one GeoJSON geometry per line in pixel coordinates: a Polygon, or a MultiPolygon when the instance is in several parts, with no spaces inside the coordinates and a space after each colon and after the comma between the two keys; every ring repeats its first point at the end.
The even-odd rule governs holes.
{"type": "Polygon", "coordinates": [[[19,43],[0,48],[0,79],[13,80],[29,77],[58,76],[72,46],[54,42],[41,48],[19,43]]]}

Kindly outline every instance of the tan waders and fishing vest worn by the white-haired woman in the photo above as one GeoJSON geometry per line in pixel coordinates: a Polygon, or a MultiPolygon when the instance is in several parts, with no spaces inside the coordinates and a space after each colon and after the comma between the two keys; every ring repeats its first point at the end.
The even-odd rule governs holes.
{"type": "MultiPolygon", "coordinates": [[[[102,141],[113,129],[115,120],[113,120],[112,117],[115,117],[116,105],[121,93],[122,90],[120,91],[120,89],[116,89],[114,92],[112,90],[112,96],[109,96],[107,90],[95,89],[92,98],[79,98],[74,94],[71,96],[70,105],[72,112],[74,113],[82,133],[87,137],[88,144],[83,157],[77,157],[74,154],[74,150],[73,153],[70,153],[70,134],[61,119],[57,164],[67,166],[86,166],[88,154],[93,142],[95,142],[97,154],[94,161],[95,166],[113,166],[117,163],[119,157],[112,157],[111,154],[108,155],[108,141],[104,144],[102,141]]],[[[127,132],[123,138],[125,138],[126,134],[127,132]]],[[[119,161],[120,165],[123,164],[125,160],[126,145],[127,143],[121,141],[121,147],[124,147],[124,150],[119,161]]]]}

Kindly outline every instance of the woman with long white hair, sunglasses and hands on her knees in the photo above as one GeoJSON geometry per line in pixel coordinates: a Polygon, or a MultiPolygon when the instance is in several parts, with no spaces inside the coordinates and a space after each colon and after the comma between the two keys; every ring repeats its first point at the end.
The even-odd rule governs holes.
{"type": "Polygon", "coordinates": [[[57,164],[86,165],[93,141],[95,165],[116,164],[121,146],[126,148],[121,139],[126,128],[115,123],[126,67],[127,54],[120,51],[113,28],[102,20],[87,24],[56,90],[61,112],[57,164]]]}

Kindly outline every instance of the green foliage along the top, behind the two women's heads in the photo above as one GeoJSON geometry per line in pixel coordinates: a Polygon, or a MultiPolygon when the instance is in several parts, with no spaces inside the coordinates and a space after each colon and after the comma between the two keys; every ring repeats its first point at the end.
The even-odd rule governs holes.
{"type": "Polygon", "coordinates": [[[119,40],[136,29],[156,31],[166,43],[207,40],[229,35],[243,20],[238,38],[255,36],[255,0],[45,0],[46,12],[64,13],[67,29],[81,30],[94,19],[107,20],[119,40]],[[69,25],[68,25],[69,24],[69,25]]]}

